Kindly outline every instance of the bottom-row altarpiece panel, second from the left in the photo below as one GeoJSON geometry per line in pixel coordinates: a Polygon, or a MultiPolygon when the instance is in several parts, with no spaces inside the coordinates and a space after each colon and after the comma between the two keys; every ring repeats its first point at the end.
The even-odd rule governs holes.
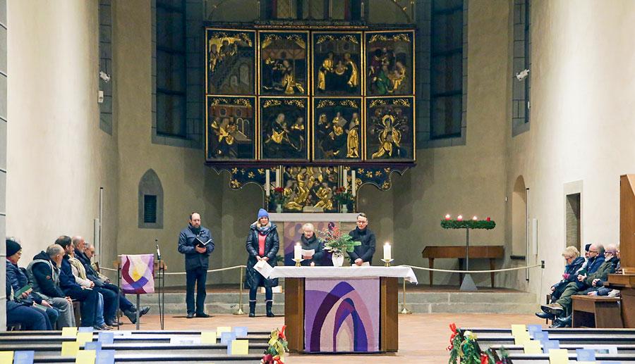
{"type": "Polygon", "coordinates": [[[260,97],[260,158],[308,161],[308,99],[260,97]]]}

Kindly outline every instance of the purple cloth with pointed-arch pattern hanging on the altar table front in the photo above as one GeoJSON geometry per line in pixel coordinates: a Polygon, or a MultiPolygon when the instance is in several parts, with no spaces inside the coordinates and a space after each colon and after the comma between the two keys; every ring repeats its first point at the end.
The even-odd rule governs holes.
{"type": "Polygon", "coordinates": [[[304,351],[379,351],[380,279],[306,278],[304,351]]]}

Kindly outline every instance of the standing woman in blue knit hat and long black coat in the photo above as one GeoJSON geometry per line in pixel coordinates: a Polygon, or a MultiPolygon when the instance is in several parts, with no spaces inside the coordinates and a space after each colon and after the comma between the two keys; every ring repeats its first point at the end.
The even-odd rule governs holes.
{"type": "Polygon", "coordinates": [[[249,227],[247,235],[246,249],[249,253],[247,259],[246,286],[249,287],[249,317],[255,317],[255,297],[258,287],[265,287],[265,303],[267,306],[267,317],[274,317],[271,312],[273,306],[272,287],[278,285],[278,279],[268,279],[255,270],[254,265],[259,261],[275,267],[277,265],[277,253],[280,247],[277,227],[269,221],[269,213],[265,209],[258,211],[258,221],[249,227]]]}

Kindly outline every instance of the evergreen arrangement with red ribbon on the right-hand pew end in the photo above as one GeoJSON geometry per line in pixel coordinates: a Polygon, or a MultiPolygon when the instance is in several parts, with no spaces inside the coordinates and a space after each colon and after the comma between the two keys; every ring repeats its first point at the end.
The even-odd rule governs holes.
{"type": "Polygon", "coordinates": [[[476,340],[476,334],[469,330],[457,329],[454,323],[449,325],[452,330],[450,344],[447,351],[450,353],[448,364],[513,364],[507,356],[507,351],[501,348],[501,356],[494,349],[481,351],[476,340]]]}

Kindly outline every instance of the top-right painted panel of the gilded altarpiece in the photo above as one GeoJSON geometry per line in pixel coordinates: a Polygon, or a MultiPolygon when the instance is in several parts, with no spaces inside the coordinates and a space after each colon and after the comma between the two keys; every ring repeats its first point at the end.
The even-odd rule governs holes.
{"type": "Polygon", "coordinates": [[[414,31],[365,32],[366,96],[413,95],[414,31]]]}

